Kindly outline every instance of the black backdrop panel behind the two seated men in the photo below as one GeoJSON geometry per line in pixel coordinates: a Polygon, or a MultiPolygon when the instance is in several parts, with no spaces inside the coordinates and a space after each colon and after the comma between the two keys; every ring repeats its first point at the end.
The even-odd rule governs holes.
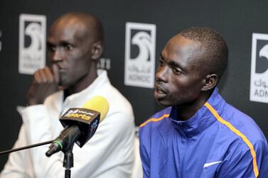
{"type": "MultiPolygon", "coordinates": [[[[98,16],[105,30],[104,58],[111,60],[109,77],[132,103],[138,126],[159,111],[154,89],[124,85],[125,27],[127,22],[156,25],[156,65],[167,40],[184,28],[209,26],[229,46],[229,64],[220,82],[227,102],[254,118],[268,137],[267,104],[250,101],[252,33],[268,33],[266,1],[0,1],[0,150],[10,149],[17,138],[21,118],[16,106],[26,104],[31,75],[18,73],[18,23],[21,13],[41,14],[47,26],[67,11],[98,16]]],[[[268,76],[267,76],[268,77],[268,76]]],[[[0,169],[7,155],[0,157],[0,169]]]]}

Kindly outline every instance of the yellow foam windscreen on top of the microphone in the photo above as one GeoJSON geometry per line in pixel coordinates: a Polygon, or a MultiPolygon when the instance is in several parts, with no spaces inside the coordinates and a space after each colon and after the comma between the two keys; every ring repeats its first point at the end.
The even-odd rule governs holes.
{"type": "Polygon", "coordinates": [[[91,99],[85,102],[85,104],[83,104],[82,108],[98,111],[100,113],[101,122],[109,111],[109,103],[107,99],[102,96],[93,96],[91,99]]]}

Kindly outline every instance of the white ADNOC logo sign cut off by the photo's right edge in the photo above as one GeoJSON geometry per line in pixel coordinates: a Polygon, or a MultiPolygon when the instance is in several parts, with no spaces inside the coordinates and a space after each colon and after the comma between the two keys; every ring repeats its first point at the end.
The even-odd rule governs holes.
{"type": "Polygon", "coordinates": [[[268,34],[252,35],[250,101],[268,103],[268,34]]]}

